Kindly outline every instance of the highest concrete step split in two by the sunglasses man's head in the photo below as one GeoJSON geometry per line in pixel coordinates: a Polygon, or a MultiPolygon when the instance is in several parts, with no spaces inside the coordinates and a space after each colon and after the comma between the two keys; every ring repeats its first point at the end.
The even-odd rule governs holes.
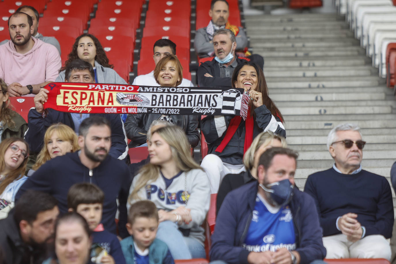
{"type": "MultiPolygon", "coordinates": [[[[330,132],[330,128],[324,128],[324,129],[290,129],[287,125],[285,126],[286,128],[286,135],[287,137],[293,137],[293,136],[326,136],[330,132]]],[[[362,135],[368,136],[368,135],[396,135],[396,127],[394,128],[362,128],[361,129],[362,135]]],[[[396,160],[396,156],[395,156],[396,160]]]]}

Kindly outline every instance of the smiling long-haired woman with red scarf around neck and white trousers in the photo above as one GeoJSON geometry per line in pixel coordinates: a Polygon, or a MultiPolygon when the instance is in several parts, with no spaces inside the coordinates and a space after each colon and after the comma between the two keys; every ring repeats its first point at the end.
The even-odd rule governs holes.
{"type": "Polygon", "coordinates": [[[212,194],[217,193],[226,174],[245,170],[244,153],[259,133],[272,131],[286,137],[282,114],[268,97],[263,71],[256,64],[245,62],[236,66],[232,87],[243,88],[249,98],[245,104],[246,120],[235,115],[206,116],[201,120],[201,130],[208,143],[208,155],[201,167],[208,173],[212,194]]]}

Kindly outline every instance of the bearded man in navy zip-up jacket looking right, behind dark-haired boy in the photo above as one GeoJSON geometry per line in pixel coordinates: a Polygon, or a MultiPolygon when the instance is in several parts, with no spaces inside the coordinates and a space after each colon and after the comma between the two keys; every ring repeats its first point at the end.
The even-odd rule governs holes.
{"type": "Polygon", "coordinates": [[[119,234],[128,236],[126,202],[131,180],[125,162],[108,155],[111,146],[109,121],[101,116],[84,119],[79,127],[78,145],[81,148],[78,152],[67,153],[42,165],[21,186],[15,200],[30,189],[48,192],[58,200],[61,213],[66,213],[70,186],[78,182],[93,183],[106,194],[102,215],[104,228],[116,234],[114,218],[118,198],[119,234]]]}

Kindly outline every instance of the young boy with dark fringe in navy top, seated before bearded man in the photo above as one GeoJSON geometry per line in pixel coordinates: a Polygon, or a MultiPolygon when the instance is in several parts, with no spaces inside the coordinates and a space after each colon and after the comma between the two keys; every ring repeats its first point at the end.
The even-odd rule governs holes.
{"type": "MultiPolygon", "coordinates": [[[[87,220],[89,229],[92,231],[92,245],[94,247],[98,245],[107,251],[107,254],[101,257],[100,263],[126,264],[117,236],[105,230],[103,224],[100,223],[104,199],[105,194],[95,184],[76,183],[67,193],[67,207],[69,211],[75,211],[87,220]]],[[[98,248],[92,250],[97,252],[98,248]]],[[[100,248],[99,251],[101,251],[100,248]]]]}

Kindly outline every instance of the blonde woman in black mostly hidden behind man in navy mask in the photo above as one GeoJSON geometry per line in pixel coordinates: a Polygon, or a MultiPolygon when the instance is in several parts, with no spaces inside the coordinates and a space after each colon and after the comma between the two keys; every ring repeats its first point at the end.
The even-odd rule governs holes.
{"type": "Polygon", "coordinates": [[[255,137],[250,147],[245,152],[243,162],[246,171],[239,174],[227,174],[221,181],[219,192],[217,193],[216,215],[220,210],[225,196],[229,192],[251,180],[257,179],[257,164],[259,163],[260,156],[268,148],[272,147],[286,148],[286,139],[282,136],[275,135],[271,131],[261,132],[255,137]]]}

